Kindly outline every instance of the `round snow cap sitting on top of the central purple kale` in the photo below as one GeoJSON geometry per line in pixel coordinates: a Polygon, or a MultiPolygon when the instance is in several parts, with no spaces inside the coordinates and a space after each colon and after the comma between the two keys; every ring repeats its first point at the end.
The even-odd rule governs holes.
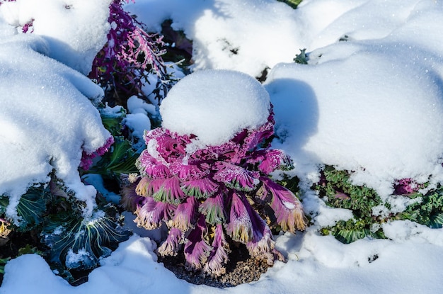
{"type": "Polygon", "coordinates": [[[219,145],[243,129],[263,125],[270,101],[248,74],[205,70],[178,81],[160,106],[162,126],[179,135],[196,135],[201,144],[219,145]]]}

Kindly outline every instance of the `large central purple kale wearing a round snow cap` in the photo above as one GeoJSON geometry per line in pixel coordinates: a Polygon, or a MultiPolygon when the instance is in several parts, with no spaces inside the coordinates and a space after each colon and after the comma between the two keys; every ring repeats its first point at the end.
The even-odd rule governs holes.
{"type": "MultiPolygon", "coordinates": [[[[194,98],[201,90],[195,89],[194,98]]],[[[246,74],[206,71],[179,81],[163,103],[163,128],[145,133],[147,147],[137,160],[139,174],[128,176],[127,186],[122,189],[122,205],[134,211],[137,225],[148,230],[163,223],[168,227],[168,237],[158,253],[176,255],[183,249],[187,268],[212,276],[224,273],[232,242],[246,244],[251,256],[264,258],[268,264],[282,259],[275,249],[270,225],[295,232],[304,229],[305,218],[297,197],[268,177],[275,169],[291,169],[292,162],[282,150],[260,145],[274,132],[267,92],[246,74]],[[217,84],[226,88],[211,88],[217,84]],[[185,98],[187,107],[181,108],[177,100],[199,86],[214,92],[203,91],[207,99],[204,103],[196,98],[198,109],[185,98]],[[231,96],[225,96],[226,89],[231,96]],[[174,100],[176,95],[179,98],[174,100]],[[224,101],[225,111],[236,113],[230,108],[230,99],[236,100],[246,117],[251,109],[259,108],[255,115],[266,115],[264,120],[247,120],[243,125],[236,125],[242,118],[226,122],[235,128],[229,130],[229,140],[220,141],[217,135],[212,140],[205,128],[222,134],[226,130],[221,125],[219,130],[212,129],[199,115],[186,113],[204,112],[207,106],[220,106],[224,101]],[[174,128],[173,122],[168,123],[168,111],[175,113],[176,107],[197,120],[195,132],[179,134],[164,127],[166,124],[174,128]]],[[[224,117],[224,110],[217,109],[218,113],[199,114],[217,122],[224,117]]]]}

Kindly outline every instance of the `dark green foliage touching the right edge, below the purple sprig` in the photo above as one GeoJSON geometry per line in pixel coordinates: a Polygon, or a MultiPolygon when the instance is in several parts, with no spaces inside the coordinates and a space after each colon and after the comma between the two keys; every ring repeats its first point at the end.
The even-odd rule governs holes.
{"type": "Polygon", "coordinates": [[[429,191],[425,195],[413,193],[410,198],[421,198],[421,201],[408,205],[403,213],[397,218],[401,220],[412,220],[421,225],[427,225],[433,229],[443,227],[443,187],[429,191]]]}

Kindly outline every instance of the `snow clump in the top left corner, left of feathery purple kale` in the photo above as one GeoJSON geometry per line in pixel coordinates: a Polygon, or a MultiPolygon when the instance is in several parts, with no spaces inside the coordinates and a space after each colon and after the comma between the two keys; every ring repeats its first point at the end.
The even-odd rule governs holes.
{"type": "Polygon", "coordinates": [[[47,43],[47,55],[82,74],[91,72],[105,45],[111,0],[16,0],[0,6],[0,16],[21,28],[32,23],[33,34],[47,43]]]}

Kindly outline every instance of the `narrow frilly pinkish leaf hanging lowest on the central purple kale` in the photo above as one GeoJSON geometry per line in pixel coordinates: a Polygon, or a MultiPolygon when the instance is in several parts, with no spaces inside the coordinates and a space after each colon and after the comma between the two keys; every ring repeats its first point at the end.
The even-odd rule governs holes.
{"type": "Polygon", "coordinates": [[[221,224],[215,227],[212,248],[203,271],[209,276],[217,277],[226,273],[225,264],[228,262],[228,254],[231,251],[221,224]]]}

